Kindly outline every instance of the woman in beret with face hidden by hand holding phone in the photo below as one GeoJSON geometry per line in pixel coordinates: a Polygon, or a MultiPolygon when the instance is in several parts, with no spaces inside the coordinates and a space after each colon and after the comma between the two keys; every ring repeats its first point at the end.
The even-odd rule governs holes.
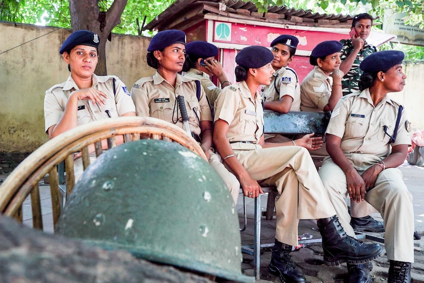
{"type": "Polygon", "coordinates": [[[186,72],[184,76],[201,82],[209,103],[213,106],[222,88],[231,85],[222,65],[215,60],[215,56],[219,53],[218,48],[206,41],[192,41],[185,45],[185,53],[187,59],[182,68],[186,72]],[[221,87],[213,84],[212,76],[218,79],[221,87]]]}

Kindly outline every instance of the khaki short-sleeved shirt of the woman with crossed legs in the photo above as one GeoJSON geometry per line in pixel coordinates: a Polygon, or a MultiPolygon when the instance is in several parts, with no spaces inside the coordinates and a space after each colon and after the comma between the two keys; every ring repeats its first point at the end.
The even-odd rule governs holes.
{"type": "MultiPolygon", "coordinates": [[[[222,119],[228,123],[227,139],[233,141],[259,142],[264,133],[264,110],[262,98],[256,91],[255,99],[242,81],[238,85],[227,86],[219,94],[215,101],[215,120],[222,119]]],[[[249,144],[231,144],[233,149],[237,145],[249,146],[249,144]]],[[[251,149],[257,147],[253,146],[251,149]]],[[[244,148],[243,148],[244,149],[244,148]]]]}

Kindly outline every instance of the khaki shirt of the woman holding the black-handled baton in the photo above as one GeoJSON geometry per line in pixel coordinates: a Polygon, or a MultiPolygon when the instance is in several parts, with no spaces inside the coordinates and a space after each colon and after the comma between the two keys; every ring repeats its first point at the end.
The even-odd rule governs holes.
{"type": "Polygon", "coordinates": [[[156,71],[153,76],[138,80],[131,89],[137,116],[157,118],[184,129],[178,95],[184,96],[190,130],[200,135],[200,121],[212,121],[212,115],[203,88],[197,100],[194,79],[177,74],[174,88],[156,71]]]}

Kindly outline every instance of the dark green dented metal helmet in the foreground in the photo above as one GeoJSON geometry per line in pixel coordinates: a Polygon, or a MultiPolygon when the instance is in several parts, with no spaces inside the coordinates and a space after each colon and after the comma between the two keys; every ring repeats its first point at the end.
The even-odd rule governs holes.
{"type": "Polygon", "coordinates": [[[139,140],[102,154],[74,187],[56,228],[91,245],[254,281],[241,273],[239,221],[227,187],[178,143],[139,140]]]}

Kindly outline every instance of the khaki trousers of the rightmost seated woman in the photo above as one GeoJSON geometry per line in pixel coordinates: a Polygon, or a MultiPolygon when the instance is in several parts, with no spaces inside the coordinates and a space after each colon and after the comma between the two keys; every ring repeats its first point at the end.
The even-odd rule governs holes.
{"type": "MultiPolygon", "coordinates": [[[[345,154],[350,163],[362,174],[379,157],[365,154],[345,154]]],[[[328,190],[330,200],[345,232],[355,237],[345,199],[348,196],[346,175],[331,158],[324,160],[319,175],[328,190]]],[[[382,171],[375,187],[365,194],[365,200],[382,215],[386,229],[384,244],[389,260],[414,262],[414,210],[412,195],[397,168],[382,171]]]]}

